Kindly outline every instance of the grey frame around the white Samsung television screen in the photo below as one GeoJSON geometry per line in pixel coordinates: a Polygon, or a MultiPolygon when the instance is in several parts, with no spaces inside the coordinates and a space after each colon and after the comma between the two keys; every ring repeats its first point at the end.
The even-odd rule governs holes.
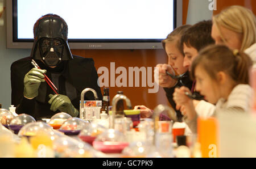
{"type": "MultiPolygon", "coordinates": [[[[182,14],[183,14],[183,2],[180,0],[174,0],[176,4],[176,18],[174,18],[174,28],[182,25],[182,14]]],[[[13,0],[6,1],[6,47],[7,49],[31,49],[33,42],[31,41],[15,41],[13,36],[13,0]]],[[[95,41],[84,42],[80,40],[73,41],[68,40],[69,48],[71,49],[163,49],[161,40],[155,41],[129,41],[126,40],[112,40],[109,41],[95,41]],[[127,42],[128,41],[128,42],[127,42]]]]}

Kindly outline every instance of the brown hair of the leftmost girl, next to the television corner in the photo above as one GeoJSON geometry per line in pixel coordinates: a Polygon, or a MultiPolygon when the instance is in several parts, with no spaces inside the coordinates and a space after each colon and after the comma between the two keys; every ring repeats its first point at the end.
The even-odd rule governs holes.
{"type": "Polygon", "coordinates": [[[166,50],[166,43],[169,41],[175,41],[176,40],[176,47],[180,50],[180,53],[183,54],[184,56],[184,52],[183,52],[183,47],[180,43],[180,39],[181,36],[184,34],[185,31],[187,31],[188,28],[190,28],[191,25],[183,25],[180,27],[177,27],[176,29],[174,29],[174,31],[172,31],[171,33],[169,33],[169,35],[166,37],[166,39],[162,40],[162,45],[164,50],[166,50]]]}

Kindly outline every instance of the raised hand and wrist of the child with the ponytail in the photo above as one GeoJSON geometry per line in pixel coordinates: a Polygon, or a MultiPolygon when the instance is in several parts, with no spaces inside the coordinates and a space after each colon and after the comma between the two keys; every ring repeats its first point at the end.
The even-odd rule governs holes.
{"type": "Polygon", "coordinates": [[[174,91],[174,102],[176,103],[176,109],[180,110],[183,116],[186,116],[188,120],[192,120],[196,116],[193,100],[185,95],[185,92],[191,94],[189,88],[180,87],[175,88],[174,91]]]}

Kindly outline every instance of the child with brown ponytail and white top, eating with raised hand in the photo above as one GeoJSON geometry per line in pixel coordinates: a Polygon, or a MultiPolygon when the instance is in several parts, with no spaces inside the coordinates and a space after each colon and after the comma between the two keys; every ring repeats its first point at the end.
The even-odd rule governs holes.
{"type": "MultiPolygon", "coordinates": [[[[247,54],[230,50],[223,45],[210,45],[200,51],[191,65],[191,77],[196,80],[196,91],[213,106],[214,113],[241,113],[250,110],[252,90],[249,68],[252,61],[247,54]]],[[[185,116],[189,128],[197,132],[197,113],[193,104],[184,103],[185,87],[177,88],[174,100],[185,116]]]]}

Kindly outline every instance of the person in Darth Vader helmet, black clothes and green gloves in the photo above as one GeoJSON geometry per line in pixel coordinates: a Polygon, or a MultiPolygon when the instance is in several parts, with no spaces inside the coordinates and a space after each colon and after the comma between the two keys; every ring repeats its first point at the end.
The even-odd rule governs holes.
{"type": "MultiPolygon", "coordinates": [[[[93,59],[72,55],[67,41],[68,26],[60,16],[47,14],[36,21],[31,56],[11,65],[11,103],[16,113],[26,113],[36,120],[58,112],[79,117],[81,92],[87,87],[102,100],[93,59]],[[31,64],[32,60],[40,69],[31,64]],[[45,82],[44,74],[58,94],[45,82]]],[[[94,100],[92,92],[86,92],[85,100],[94,100]]]]}

